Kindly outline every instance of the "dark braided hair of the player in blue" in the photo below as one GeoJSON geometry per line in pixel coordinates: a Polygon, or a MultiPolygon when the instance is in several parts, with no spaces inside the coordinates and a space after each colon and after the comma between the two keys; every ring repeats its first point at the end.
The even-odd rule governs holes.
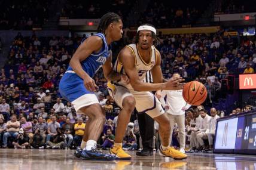
{"type": "Polygon", "coordinates": [[[97,27],[98,33],[104,33],[105,30],[108,28],[109,24],[113,23],[114,21],[121,20],[120,16],[115,13],[106,13],[104,16],[100,18],[99,26],[97,27]]]}

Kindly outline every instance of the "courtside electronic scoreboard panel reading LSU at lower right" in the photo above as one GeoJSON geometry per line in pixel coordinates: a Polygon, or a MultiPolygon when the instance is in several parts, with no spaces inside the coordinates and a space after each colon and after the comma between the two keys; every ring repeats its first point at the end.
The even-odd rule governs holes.
{"type": "Polygon", "coordinates": [[[256,154],[256,112],[217,119],[214,153],[256,154]]]}

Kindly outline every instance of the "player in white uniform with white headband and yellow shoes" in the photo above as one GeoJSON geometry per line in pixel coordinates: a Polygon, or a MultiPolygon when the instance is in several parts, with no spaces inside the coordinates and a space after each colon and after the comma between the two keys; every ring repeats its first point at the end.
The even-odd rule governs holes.
{"type": "MultiPolygon", "coordinates": [[[[130,83],[117,81],[109,82],[109,94],[122,108],[117,120],[115,131],[115,143],[110,149],[117,159],[131,159],[131,156],[122,149],[122,141],[127,123],[133,109],[136,107],[139,113],[145,112],[159,123],[159,134],[161,137],[160,155],[172,157],[173,159],[186,159],[187,155],[169,146],[170,122],[160,101],[150,91],[178,90],[184,86],[184,79],[173,78],[163,82],[161,73],[161,55],[154,47],[157,42],[156,29],[149,24],[138,27],[136,44],[129,44],[118,54],[114,70],[117,73],[126,74],[130,83]],[[146,73],[151,70],[153,84],[143,82],[146,73]]],[[[145,127],[147,128],[147,127],[145,127]]]]}

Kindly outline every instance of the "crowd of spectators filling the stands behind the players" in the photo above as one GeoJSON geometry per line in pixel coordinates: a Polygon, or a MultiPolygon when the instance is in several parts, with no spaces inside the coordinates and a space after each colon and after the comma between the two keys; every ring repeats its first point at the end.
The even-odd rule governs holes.
{"type": "MultiPolygon", "coordinates": [[[[197,80],[205,84],[208,90],[208,100],[205,106],[211,106],[212,101],[225,98],[227,86],[222,83],[228,74],[253,73],[256,63],[256,41],[245,38],[238,44],[230,36],[224,37],[220,32],[215,34],[189,35],[159,35],[161,44],[157,46],[161,54],[163,76],[170,78],[173,73],[180,73],[186,81],[197,80]],[[249,69],[248,69],[249,68],[249,69]],[[247,70],[247,71],[246,71],[247,70]]],[[[134,42],[134,37],[124,38],[128,43],[134,42]]],[[[57,90],[60,79],[68,66],[69,60],[80,44],[77,35],[66,37],[38,37],[33,32],[30,37],[18,34],[10,45],[8,62],[0,74],[0,144],[2,147],[16,148],[74,148],[79,146],[86,126],[86,116],[78,115],[71,103],[64,100],[57,90]]],[[[106,80],[102,72],[97,72],[95,82],[99,88],[95,94],[100,105],[106,111],[106,123],[98,144],[108,149],[114,142],[120,108],[108,95],[106,80]]],[[[237,108],[232,114],[251,110],[237,108]]],[[[186,113],[187,141],[195,141],[195,127],[198,116],[205,116],[207,110],[191,107],[186,113]],[[200,113],[202,113],[200,116],[200,113]],[[193,140],[190,140],[193,135],[193,140]]],[[[208,116],[224,116],[214,108],[208,116]],[[214,110],[214,111],[212,111],[214,110]],[[214,112],[214,113],[212,113],[214,112]]],[[[138,121],[133,114],[127,127],[123,147],[127,150],[139,149],[138,121]]],[[[212,125],[214,126],[214,125],[212,125]]],[[[204,127],[203,129],[214,129],[204,127]]],[[[156,150],[159,136],[156,125],[156,150]]],[[[173,132],[178,147],[178,129],[173,132]]],[[[205,131],[204,131],[205,132],[205,131]]],[[[213,133],[213,132],[212,132],[213,133]]],[[[205,134],[202,135],[202,140],[205,134]]],[[[209,137],[208,137],[209,138],[209,137]]],[[[211,139],[211,137],[210,137],[211,139]]],[[[193,150],[206,149],[206,144],[198,140],[200,146],[192,144],[193,150]],[[196,147],[196,148],[194,148],[196,147]]],[[[208,144],[211,149],[211,143],[208,144]]],[[[173,140],[175,143],[175,140],[173,140]]]]}

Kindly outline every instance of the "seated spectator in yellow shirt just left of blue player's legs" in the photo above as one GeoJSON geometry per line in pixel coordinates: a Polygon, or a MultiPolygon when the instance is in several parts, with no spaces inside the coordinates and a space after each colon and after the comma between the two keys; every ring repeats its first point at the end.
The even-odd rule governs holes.
{"type": "Polygon", "coordinates": [[[74,130],[75,130],[75,137],[74,141],[76,146],[80,146],[83,135],[84,135],[84,129],[86,128],[86,124],[83,123],[82,118],[78,118],[77,123],[75,124],[74,130]]]}

